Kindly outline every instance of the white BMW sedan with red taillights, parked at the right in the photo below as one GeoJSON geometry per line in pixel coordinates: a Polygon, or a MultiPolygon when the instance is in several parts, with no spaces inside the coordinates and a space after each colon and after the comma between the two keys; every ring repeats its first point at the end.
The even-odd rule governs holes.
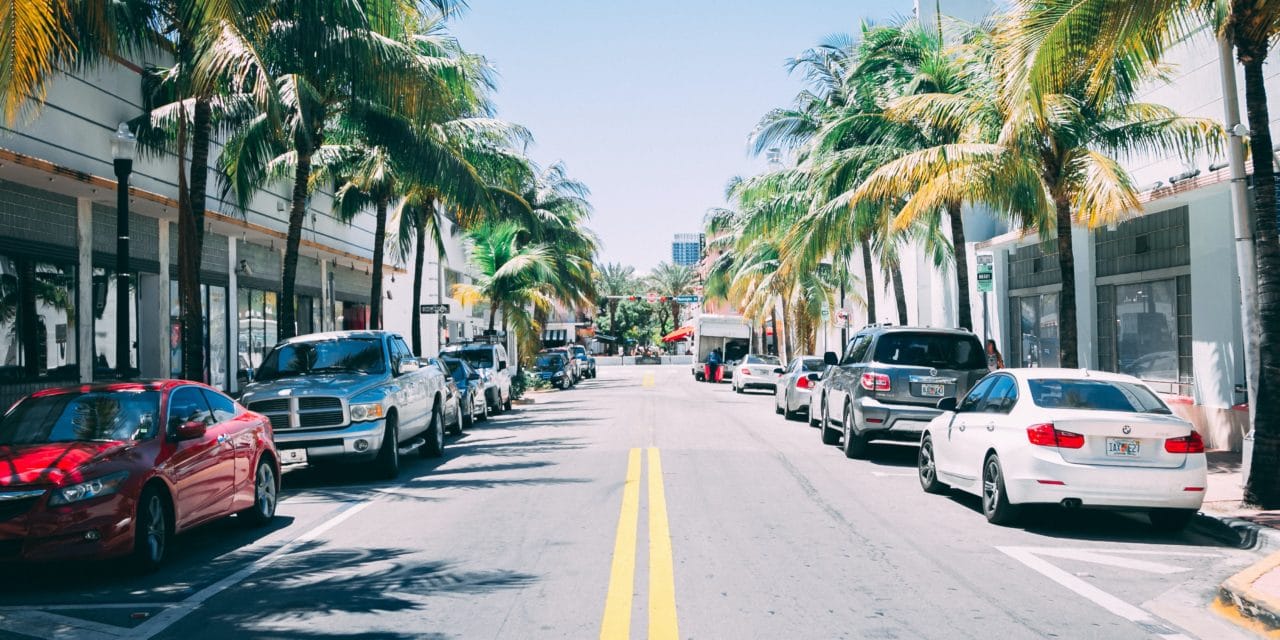
{"type": "Polygon", "coordinates": [[[983,378],[920,439],[920,486],[982,498],[987,520],[1021,504],[1147,511],[1181,529],[1204,500],[1204,442],[1137,378],[1005,369],[983,378]]]}

